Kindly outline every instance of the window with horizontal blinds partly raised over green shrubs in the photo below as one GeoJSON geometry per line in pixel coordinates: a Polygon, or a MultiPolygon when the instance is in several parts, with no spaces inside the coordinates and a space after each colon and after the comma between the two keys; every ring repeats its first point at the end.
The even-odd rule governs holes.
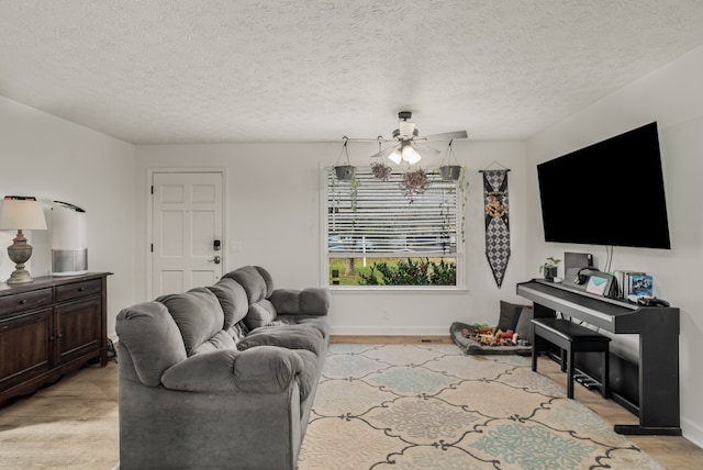
{"type": "Polygon", "coordinates": [[[460,286],[465,183],[425,175],[409,193],[400,169],[381,180],[357,168],[352,181],[325,170],[330,286],[460,286]]]}

